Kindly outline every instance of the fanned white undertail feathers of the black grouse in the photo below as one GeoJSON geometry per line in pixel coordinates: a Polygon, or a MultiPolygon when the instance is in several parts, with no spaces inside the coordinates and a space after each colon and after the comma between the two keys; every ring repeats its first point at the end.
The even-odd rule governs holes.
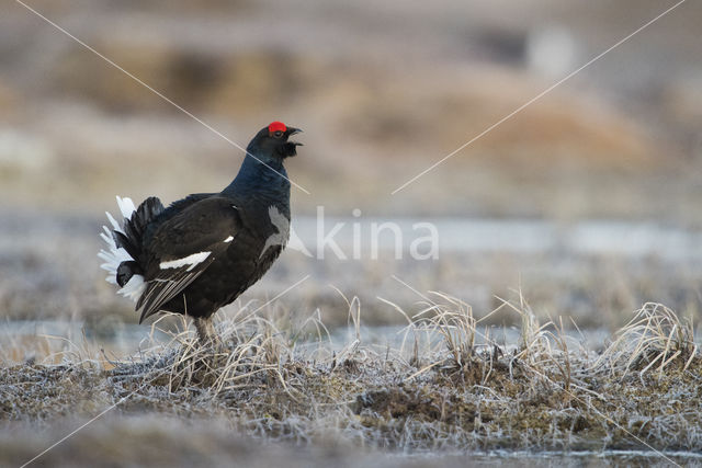
{"type": "MultiPolygon", "coordinates": [[[[132,214],[136,212],[134,202],[128,197],[121,198],[120,196],[117,196],[117,206],[120,207],[120,212],[125,219],[131,219],[132,214]]],[[[105,278],[105,281],[111,284],[117,284],[117,267],[120,266],[120,263],[134,259],[127,253],[126,250],[124,250],[123,248],[117,248],[117,246],[114,243],[112,231],[116,230],[124,233],[122,224],[117,222],[117,220],[109,212],[105,212],[105,215],[107,215],[107,220],[112,225],[112,229],[107,226],[102,227],[104,232],[100,232],[100,237],[105,241],[107,248],[101,249],[100,253],[98,253],[98,256],[104,261],[104,263],[101,264],[100,267],[107,272],[107,277],[105,278]]],[[[121,294],[124,297],[128,297],[132,300],[136,301],[141,296],[145,289],[146,283],[144,282],[144,276],[134,275],[129,278],[127,284],[125,284],[124,287],[122,287],[117,292],[117,294],[121,294]]]]}

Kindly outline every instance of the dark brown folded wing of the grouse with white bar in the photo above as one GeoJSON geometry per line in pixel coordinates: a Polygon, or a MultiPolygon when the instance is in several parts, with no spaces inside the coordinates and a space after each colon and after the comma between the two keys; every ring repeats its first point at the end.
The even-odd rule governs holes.
{"type": "Polygon", "coordinates": [[[240,230],[238,208],[223,197],[195,202],[159,226],[147,247],[146,289],[136,305],[139,322],[203,274],[240,230]]]}

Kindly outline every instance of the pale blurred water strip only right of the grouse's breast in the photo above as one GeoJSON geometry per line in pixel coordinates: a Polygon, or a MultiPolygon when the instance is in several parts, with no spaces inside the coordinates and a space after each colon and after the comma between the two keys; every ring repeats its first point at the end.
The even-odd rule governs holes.
{"type": "Polygon", "coordinates": [[[372,243],[378,249],[394,249],[401,239],[405,252],[418,237],[428,236],[420,224],[437,228],[440,252],[562,252],[570,255],[654,255],[670,261],[702,259],[702,231],[655,222],[585,220],[558,224],[534,219],[489,218],[353,218],[301,216],[293,229],[305,247],[315,252],[321,233],[341,226],[333,239],[351,256],[355,232],[360,232],[361,251],[370,253],[372,243]],[[373,235],[373,225],[390,222],[400,236],[385,230],[373,235]],[[375,238],[375,239],[374,239],[375,238]]]}

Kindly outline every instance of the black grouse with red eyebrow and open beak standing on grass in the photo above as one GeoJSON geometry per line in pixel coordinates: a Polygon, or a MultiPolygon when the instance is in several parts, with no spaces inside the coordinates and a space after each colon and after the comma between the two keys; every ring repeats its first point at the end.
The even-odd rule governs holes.
{"type": "Polygon", "coordinates": [[[139,207],[117,197],[124,219],[99,256],[107,282],[136,301],[139,323],[159,310],[193,318],[201,342],[216,339],[213,315],[271,267],[288,238],[290,180],[283,167],[301,132],[273,122],[247,147],[234,181],[219,193],[197,193],[165,208],[157,197],[139,207]]]}

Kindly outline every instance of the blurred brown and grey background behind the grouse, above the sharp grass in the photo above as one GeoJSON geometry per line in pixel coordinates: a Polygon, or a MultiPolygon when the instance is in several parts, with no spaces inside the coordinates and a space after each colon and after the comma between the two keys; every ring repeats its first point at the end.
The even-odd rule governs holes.
{"type": "MultiPolygon", "coordinates": [[[[521,290],[540,317],[611,329],[646,300],[699,318],[702,3],[683,3],[392,192],[673,3],[27,4],[241,146],[271,121],[303,128],[305,147],[287,163],[310,192],[292,193],[303,242],[316,242],[318,206],[346,232],[373,220],[438,227],[438,260],[396,261],[392,249],[378,260],[317,260],[288,250],[239,306],[310,275],[271,307],[295,317],[319,310],[343,324],[347,306],[332,285],[361,298],[364,323],[404,323],[377,296],[408,311],[422,299],[395,275],[418,292],[460,297],[477,316],[521,290]]],[[[242,157],[3,2],[0,315],[105,333],[136,323],[99,270],[103,212],[115,212],[116,194],[168,203],[218,191],[242,157]]]]}

